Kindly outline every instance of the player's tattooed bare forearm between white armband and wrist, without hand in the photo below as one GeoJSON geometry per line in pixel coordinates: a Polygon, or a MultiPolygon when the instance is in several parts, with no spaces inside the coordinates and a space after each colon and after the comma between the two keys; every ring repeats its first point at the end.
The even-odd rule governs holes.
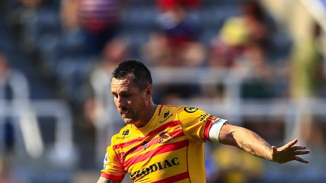
{"type": "MultiPolygon", "coordinates": [[[[232,125],[227,125],[228,127],[232,125]]],[[[232,126],[232,130],[222,139],[222,143],[233,145],[258,157],[271,160],[271,145],[257,133],[239,126],[232,126]]],[[[223,134],[222,134],[223,135],[223,134]]]]}

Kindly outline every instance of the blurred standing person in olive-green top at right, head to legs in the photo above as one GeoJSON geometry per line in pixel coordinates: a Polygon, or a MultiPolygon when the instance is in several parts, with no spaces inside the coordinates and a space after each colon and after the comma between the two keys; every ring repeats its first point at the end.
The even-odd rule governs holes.
{"type": "Polygon", "coordinates": [[[312,132],[318,125],[313,123],[311,106],[307,99],[323,95],[325,78],[322,73],[324,58],[320,45],[320,26],[313,24],[311,33],[307,40],[297,42],[292,49],[290,97],[296,102],[298,109],[305,112],[305,115],[297,114],[300,117],[296,119],[292,135],[300,136],[303,141],[313,144],[314,140],[318,140],[313,137],[318,136],[320,130],[312,132]]]}

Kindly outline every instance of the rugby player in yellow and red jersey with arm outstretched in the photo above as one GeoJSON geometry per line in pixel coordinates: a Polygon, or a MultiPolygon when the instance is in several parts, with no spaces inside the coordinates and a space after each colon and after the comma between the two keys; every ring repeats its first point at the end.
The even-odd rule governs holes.
{"type": "MultiPolygon", "coordinates": [[[[271,146],[255,132],[189,106],[156,105],[149,69],[135,60],[120,63],[112,73],[111,93],[126,125],[107,147],[97,183],[205,182],[204,143],[236,146],[277,163],[309,161],[294,139],[271,146]]],[[[236,159],[235,159],[236,160],[236,159]]]]}

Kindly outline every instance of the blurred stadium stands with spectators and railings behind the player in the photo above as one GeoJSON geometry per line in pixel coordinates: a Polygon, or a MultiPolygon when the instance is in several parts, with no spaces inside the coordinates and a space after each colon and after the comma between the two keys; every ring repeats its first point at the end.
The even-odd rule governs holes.
{"type": "Polygon", "coordinates": [[[124,125],[110,74],[129,59],[156,104],[311,150],[280,165],[208,142],[208,183],[326,182],[325,20],[324,0],[1,0],[0,182],[96,182],[124,125]]]}

